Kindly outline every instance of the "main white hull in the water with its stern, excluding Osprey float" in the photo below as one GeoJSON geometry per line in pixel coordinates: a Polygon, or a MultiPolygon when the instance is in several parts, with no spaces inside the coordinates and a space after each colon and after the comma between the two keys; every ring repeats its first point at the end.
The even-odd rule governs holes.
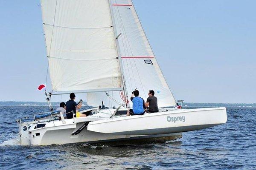
{"type": "MultiPolygon", "coordinates": [[[[75,118],[83,119],[83,118],[75,118]]],[[[25,132],[20,137],[20,144],[27,145],[50,145],[50,144],[69,144],[69,143],[100,143],[100,142],[117,142],[134,139],[150,139],[154,142],[165,137],[166,140],[177,139],[182,136],[182,133],[166,134],[166,135],[116,135],[92,132],[84,128],[79,134],[72,135],[73,132],[79,129],[84,122],[74,123],[73,119],[65,119],[66,125],[61,121],[48,122],[46,127],[38,129],[34,126],[30,127],[28,132],[25,132]],[[55,125],[53,125],[53,123],[55,125]],[[26,136],[27,135],[27,136],[26,136]],[[25,137],[26,136],[26,137],[25,137]],[[25,138],[25,139],[24,139],[25,138]]],[[[39,125],[39,124],[38,124],[39,125]]],[[[22,131],[21,131],[22,133],[22,131]]]]}

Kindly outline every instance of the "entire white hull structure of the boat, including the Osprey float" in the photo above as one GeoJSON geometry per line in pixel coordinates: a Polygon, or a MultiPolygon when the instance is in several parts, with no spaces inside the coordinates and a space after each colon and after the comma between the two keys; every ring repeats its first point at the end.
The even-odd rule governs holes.
{"type": "MultiPolygon", "coordinates": [[[[119,111],[125,112],[126,110],[120,109],[119,111]]],[[[21,123],[20,143],[50,145],[125,142],[134,139],[148,139],[154,142],[158,139],[177,139],[182,136],[183,132],[221,125],[227,121],[226,108],[167,110],[162,109],[162,112],[147,113],[143,116],[104,118],[110,117],[110,114],[113,113],[114,110],[110,109],[102,110],[93,116],[64,119],[64,121],[39,121],[37,124],[21,123]],[[72,135],[86,123],[89,125],[80,133],[72,135]],[[27,130],[23,130],[24,126],[27,130]],[[28,128],[29,126],[30,128],[28,128]]]]}

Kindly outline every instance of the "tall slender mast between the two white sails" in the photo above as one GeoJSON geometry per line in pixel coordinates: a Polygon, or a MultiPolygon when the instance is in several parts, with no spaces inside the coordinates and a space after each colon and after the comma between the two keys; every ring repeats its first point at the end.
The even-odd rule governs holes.
{"type": "Polygon", "coordinates": [[[122,33],[120,33],[119,35],[116,34],[115,20],[113,19],[112,3],[111,3],[111,0],[108,0],[108,2],[109,2],[110,13],[111,13],[111,20],[112,20],[112,24],[113,24],[113,30],[114,30],[114,36],[115,36],[114,38],[115,38],[115,42],[116,42],[116,51],[117,51],[120,71],[121,71],[121,75],[122,75],[123,91],[124,91],[124,95],[125,95],[125,105],[126,105],[126,107],[128,107],[128,103],[127,103],[128,92],[127,92],[127,88],[126,88],[126,84],[125,84],[125,77],[124,77],[124,71],[123,71],[123,66],[122,66],[122,57],[120,54],[121,50],[120,50],[119,42],[118,42],[118,38],[122,33]]]}

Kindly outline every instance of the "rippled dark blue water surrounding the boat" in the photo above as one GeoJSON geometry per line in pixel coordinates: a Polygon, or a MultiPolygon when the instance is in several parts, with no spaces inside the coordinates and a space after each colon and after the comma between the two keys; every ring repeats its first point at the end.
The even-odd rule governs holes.
{"type": "Polygon", "coordinates": [[[162,144],[20,146],[16,118],[44,106],[0,106],[0,169],[256,169],[256,108],[227,108],[226,124],[162,144]]]}

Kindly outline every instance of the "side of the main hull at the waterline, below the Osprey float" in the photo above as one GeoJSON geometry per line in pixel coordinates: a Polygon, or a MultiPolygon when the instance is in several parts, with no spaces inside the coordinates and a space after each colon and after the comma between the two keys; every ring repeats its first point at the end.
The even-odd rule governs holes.
{"type": "Polygon", "coordinates": [[[67,125],[67,128],[54,129],[42,128],[33,130],[30,133],[30,144],[32,145],[50,145],[50,144],[69,144],[69,143],[113,143],[113,144],[132,144],[144,142],[164,142],[182,137],[182,133],[165,135],[115,135],[92,132],[87,129],[82,130],[77,135],[71,135],[84,123],[67,125]],[[40,134],[36,136],[36,134],[40,134]]]}

